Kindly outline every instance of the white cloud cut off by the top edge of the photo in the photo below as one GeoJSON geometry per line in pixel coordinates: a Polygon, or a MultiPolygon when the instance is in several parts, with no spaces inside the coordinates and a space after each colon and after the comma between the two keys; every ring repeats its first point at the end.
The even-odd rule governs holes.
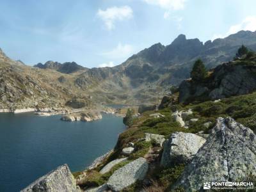
{"type": "MultiPolygon", "coordinates": [[[[182,10],[186,0],[143,0],[148,4],[160,6],[164,10],[182,10]]],[[[166,16],[168,13],[164,13],[166,16]]]]}

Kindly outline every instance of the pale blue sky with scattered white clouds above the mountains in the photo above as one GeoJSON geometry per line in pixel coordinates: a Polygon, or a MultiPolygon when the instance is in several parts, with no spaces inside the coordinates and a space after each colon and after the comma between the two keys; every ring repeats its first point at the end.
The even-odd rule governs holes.
{"type": "Polygon", "coordinates": [[[112,67],[180,34],[256,31],[255,0],[0,0],[0,47],[27,65],[112,67]]]}

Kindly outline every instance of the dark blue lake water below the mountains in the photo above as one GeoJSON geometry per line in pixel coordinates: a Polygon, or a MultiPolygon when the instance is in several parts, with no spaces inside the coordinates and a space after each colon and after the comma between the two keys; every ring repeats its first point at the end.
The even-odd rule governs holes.
{"type": "Polygon", "coordinates": [[[115,147],[122,118],[63,122],[60,116],[0,113],[0,191],[12,192],[67,163],[72,172],[115,147]]]}

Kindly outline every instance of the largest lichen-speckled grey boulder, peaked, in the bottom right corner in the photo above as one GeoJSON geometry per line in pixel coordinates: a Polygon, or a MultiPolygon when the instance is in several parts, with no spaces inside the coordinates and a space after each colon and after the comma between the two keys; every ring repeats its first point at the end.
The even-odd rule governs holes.
{"type": "Polygon", "coordinates": [[[256,177],[255,134],[230,117],[218,118],[209,138],[173,188],[202,191],[204,182],[241,182],[249,175],[256,177]]]}

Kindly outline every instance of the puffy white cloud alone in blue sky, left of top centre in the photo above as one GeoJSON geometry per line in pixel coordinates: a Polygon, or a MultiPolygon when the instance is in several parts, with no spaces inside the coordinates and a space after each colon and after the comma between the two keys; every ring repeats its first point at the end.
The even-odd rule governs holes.
{"type": "Polygon", "coordinates": [[[133,12],[130,6],[113,6],[106,10],[98,10],[97,16],[104,21],[106,28],[110,31],[115,29],[115,22],[131,19],[133,12]]]}

